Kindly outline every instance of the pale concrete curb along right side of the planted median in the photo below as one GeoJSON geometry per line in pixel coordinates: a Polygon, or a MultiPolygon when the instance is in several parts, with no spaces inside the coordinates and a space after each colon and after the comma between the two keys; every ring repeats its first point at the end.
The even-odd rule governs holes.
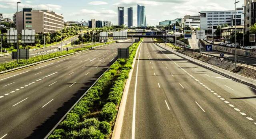
{"type": "Polygon", "coordinates": [[[138,51],[139,51],[142,43],[143,43],[143,41],[140,43],[140,45],[138,46],[138,49],[136,50],[136,55],[135,55],[135,57],[133,59],[133,63],[132,63],[132,69],[130,70],[128,79],[126,80],[126,84],[125,84],[123,95],[122,95],[122,100],[120,102],[120,106],[118,109],[118,114],[116,117],[116,122],[115,122],[115,126],[114,126],[114,130],[113,130],[111,139],[120,139],[120,136],[121,136],[122,125],[123,125],[123,120],[124,120],[124,111],[125,111],[125,107],[126,107],[126,101],[127,101],[128,91],[130,88],[130,83],[132,80],[132,73],[133,73],[134,65],[136,63],[138,51]]]}

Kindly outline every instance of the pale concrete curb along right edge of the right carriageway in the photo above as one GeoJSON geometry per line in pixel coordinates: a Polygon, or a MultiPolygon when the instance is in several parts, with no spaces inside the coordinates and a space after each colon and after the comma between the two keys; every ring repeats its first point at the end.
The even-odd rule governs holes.
{"type": "MultiPolygon", "coordinates": [[[[156,45],[158,45],[158,44],[156,44],[156,45]]],[[[243,82],[246,82],[246,83],[248,83],[248,84],[252,84],[252,85],[256,86],[256,80],[254,80],[254,79],[247,78],[247,77],[244,77],[244,76],[242,76],[242,75],[236,74],[236,73],[234,73],[234,72],[230,72],[230,71],[228,71],[228,70],[221,69],[221,68],[216,67],[216,66],[214,66],[214,65],[210,65],[210,64],[205,63],[205,62],[202,62],[202,61],[200,61],[200,60],[198,60],[198,59],[194,59],[194,58],[191,58],[191,57],[189,57],[189,56],[186,56],[186,55],[183,55],[183,54],[181,54],[181,53],[178,53],[178,52],[176,52],[176,51],[173,51],[173,50],[164,48],[164,47],[161,46],[161,45],[158,45],[158,47],[161,47],[161,48],[163,48],[163,49],[166,49],[166,50],[168,50],[168,51],[170,51],[170,52],[172,52],[172,53],[178,55],[179,57],[182,57],[182,58],[184,58],[184,59],[187,59],[188,61],[192,61],[192,62],[194,62],[194,63],[197,63],[197,64],[199,64],[199,65],[201,65],[201,66],[203,66],[203,67],[206,67],[206,68],[215,70],[215,71],[217,71],[217,72],[220,72],[220,73],[222,73],[222,74],[225,74],[225,75],[230,76],[230,77],[232,77],[232,78],[235,78],[235,79],[237,79],[237,80],[240,80],[240,81],[243,81],[243,82]]]]}

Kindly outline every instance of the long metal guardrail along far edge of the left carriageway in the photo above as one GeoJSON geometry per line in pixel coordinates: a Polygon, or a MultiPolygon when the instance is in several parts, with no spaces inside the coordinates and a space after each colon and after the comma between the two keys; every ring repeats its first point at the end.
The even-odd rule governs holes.
{"type": "MultiPolygon", "coordinates": [[[[102,46],[105,46],[105,45],[111,45],[111,44],[113,44],[113,43],[104,44],[104,45],[99,45],[99,46],[96,46],[96,47],[92,47],[91,49],[98,48],[98,47],[102,47],[102,46]]],[[[36,62],[36,63],[32,63],[32,64],[29,64],[29,65],[17,67],[17,68],[14,68],[14,69],[4,70],[4,71],[1,71],[0,74],[5,74],[5,73],[7,73],[7,72],[12,72],[12,71],[15,71],[15,70],[24,69],[24,68],[27,68],[27,67],[31,67],[31,66],[34,66],[34,65],[38,65],[38,64],[41,64],[41,63],[45,63],[45,62],[48,62],[48,61],[52,61],[52,60],[55,60],[55,59],[59,59],[59,58],[62,58],[62,57],[67,57],[67,56],[70,56],[70,55],[75,55],[75,54],[77,54],[77,53],[82,53],[82,52],[84,52],[84,51],[88,51],[88,50],[91,50],[91,49],[86,49],[86,50],[78,51],[78,52],[75,52],[75,53],[70,53],[70,54],[67,54],[67,55],[62,55],[62,56],[60,56],[60,57],[54,57],[54,58],[52,58],[52,59],[47,59],[47,60],[44,60],[44,61],[39,61],[39,62],[36,62]]]]}

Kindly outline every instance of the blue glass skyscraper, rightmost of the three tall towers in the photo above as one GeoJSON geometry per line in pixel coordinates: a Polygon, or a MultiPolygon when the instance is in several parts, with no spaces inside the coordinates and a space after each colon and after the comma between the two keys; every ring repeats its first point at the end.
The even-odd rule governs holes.
{"type": "Polygon", "coordinates": [[[145,6],[138,5],[137,6],[137,26],[147,26],[146,22],[146,14],[145,14],[145,6]]]}

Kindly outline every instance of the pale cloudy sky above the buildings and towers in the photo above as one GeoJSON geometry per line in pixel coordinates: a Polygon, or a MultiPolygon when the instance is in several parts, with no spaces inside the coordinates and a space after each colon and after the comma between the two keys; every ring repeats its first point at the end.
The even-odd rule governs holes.
{"type": "MultiPolygon", "coordinates": [[[[0,0],[0,13],[11,18],[22,8],[53,10],[64,14],[64,21],[109,20],[117,24],[117,7],[125,7],[124,23],[127,24],[127,8],[133,7],[133,22],[137,23],[137,4],[145,5],[148,25],[158,25],[163,20],[198,15],[199,11],[233,10],[234,0],[0,0]]],[[[237,7],[242,7],[240,0],[237,7]]]]}

